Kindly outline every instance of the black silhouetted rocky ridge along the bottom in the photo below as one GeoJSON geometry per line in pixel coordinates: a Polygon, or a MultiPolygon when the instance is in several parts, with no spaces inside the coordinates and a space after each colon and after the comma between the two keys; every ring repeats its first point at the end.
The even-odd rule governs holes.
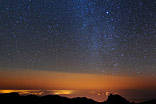
{"type": "Polygon", "coordinates": [[[142,103],[127,101],[120,95],[110,95],[105,102],[96,102],[85,97],[67,98],[58,95],[20,96],[18,93],[0,94],[0,104],[156,104],[156,99],[142,103]]]}

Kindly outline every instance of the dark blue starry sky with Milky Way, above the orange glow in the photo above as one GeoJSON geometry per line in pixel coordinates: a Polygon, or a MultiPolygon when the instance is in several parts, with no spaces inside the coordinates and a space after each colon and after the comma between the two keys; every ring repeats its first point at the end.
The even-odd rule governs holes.
{"type": "Polygon", "coordinates": [[[155,0],[1,0],[0,70],[156,75],[155,0]]]}

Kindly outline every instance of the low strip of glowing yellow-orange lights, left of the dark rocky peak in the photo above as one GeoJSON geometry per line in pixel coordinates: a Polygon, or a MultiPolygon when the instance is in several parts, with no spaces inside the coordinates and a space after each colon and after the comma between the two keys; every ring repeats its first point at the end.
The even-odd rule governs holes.
{"type": "Polygon", "coordinates": [[[21,96],[33,94],[37,96],[60,95],[69,98],[88,97],[99,102],[107,98],[101,90],[0,90],[0,94],[12,92],[18,92],[21,96]]]}

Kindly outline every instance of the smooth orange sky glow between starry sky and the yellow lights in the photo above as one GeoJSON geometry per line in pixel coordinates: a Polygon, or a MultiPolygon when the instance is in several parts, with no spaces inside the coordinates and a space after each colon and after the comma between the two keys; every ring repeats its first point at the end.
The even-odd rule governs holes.
{"type": "Polygon", "coordinates": [[[0,89],[52,89],[52,90],[121,90],[155,88],[155,79],[103,74],[82,74],[50,71],[3,71],[0,89]]]}

